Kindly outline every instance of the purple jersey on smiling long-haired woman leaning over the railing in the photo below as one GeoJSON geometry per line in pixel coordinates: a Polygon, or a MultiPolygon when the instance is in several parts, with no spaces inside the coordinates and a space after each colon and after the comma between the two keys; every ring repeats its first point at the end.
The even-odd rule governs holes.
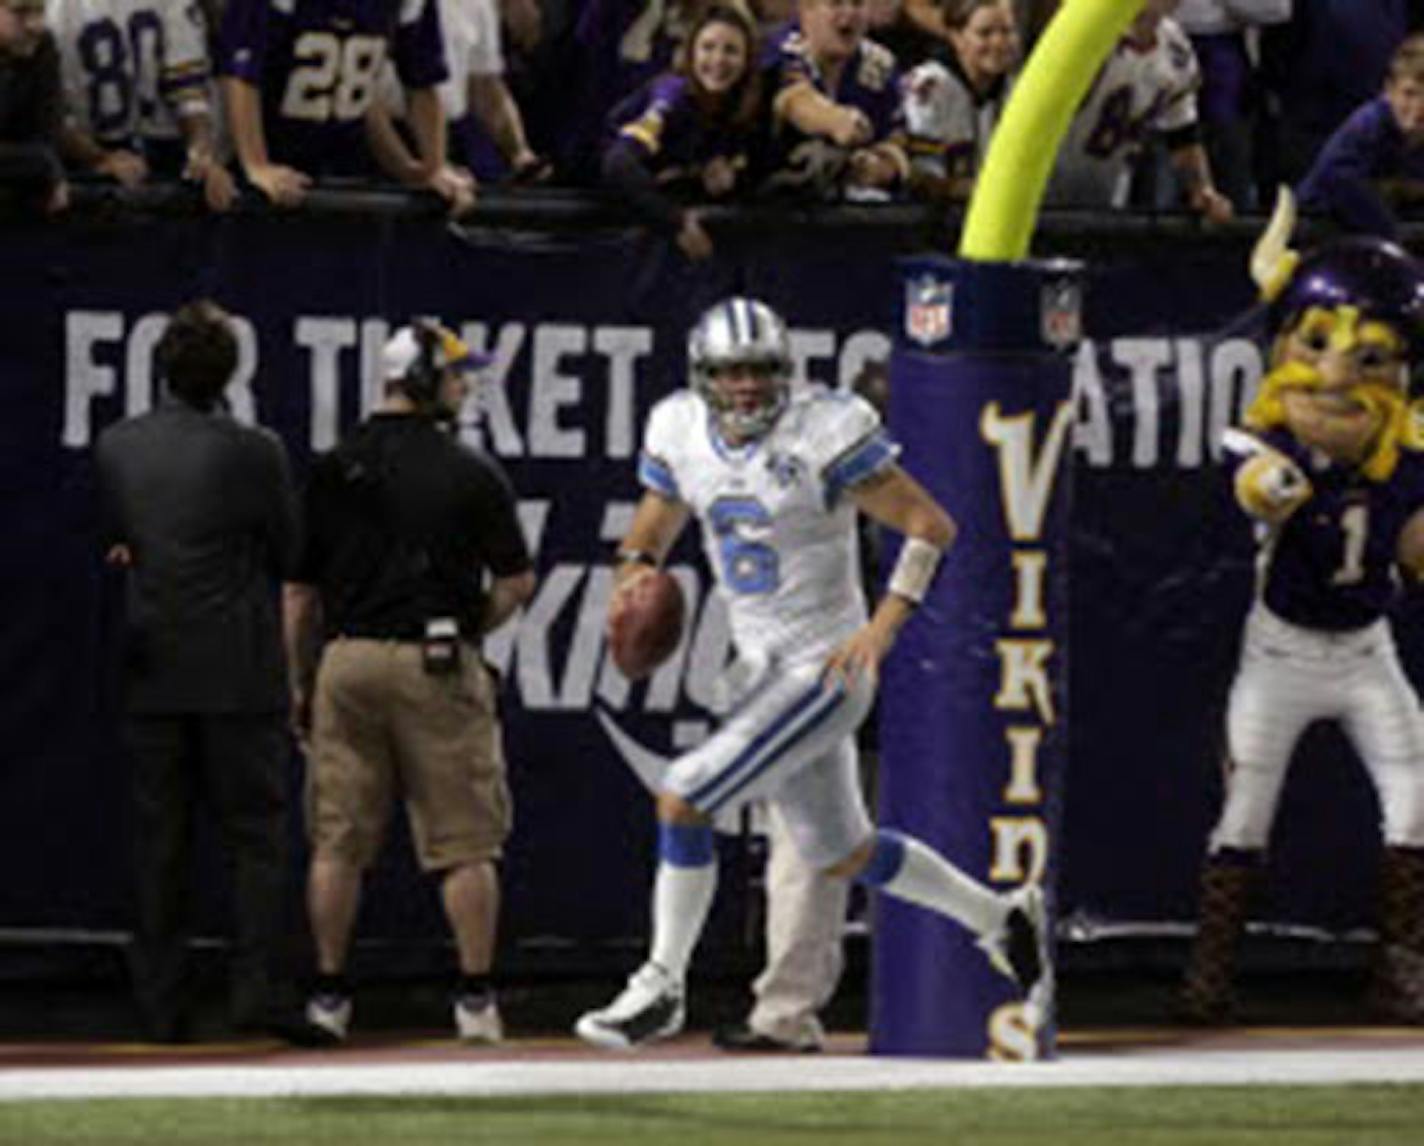
{"type": "Polygon", "coordinates": [[[659,75],[624,100],[611,118],[617,138],[638,149],[659,184],[692,181],[701,188],[708,159],[738,162],[750,144],[746,130],[699,111],[681,75],[659,75]]]}

